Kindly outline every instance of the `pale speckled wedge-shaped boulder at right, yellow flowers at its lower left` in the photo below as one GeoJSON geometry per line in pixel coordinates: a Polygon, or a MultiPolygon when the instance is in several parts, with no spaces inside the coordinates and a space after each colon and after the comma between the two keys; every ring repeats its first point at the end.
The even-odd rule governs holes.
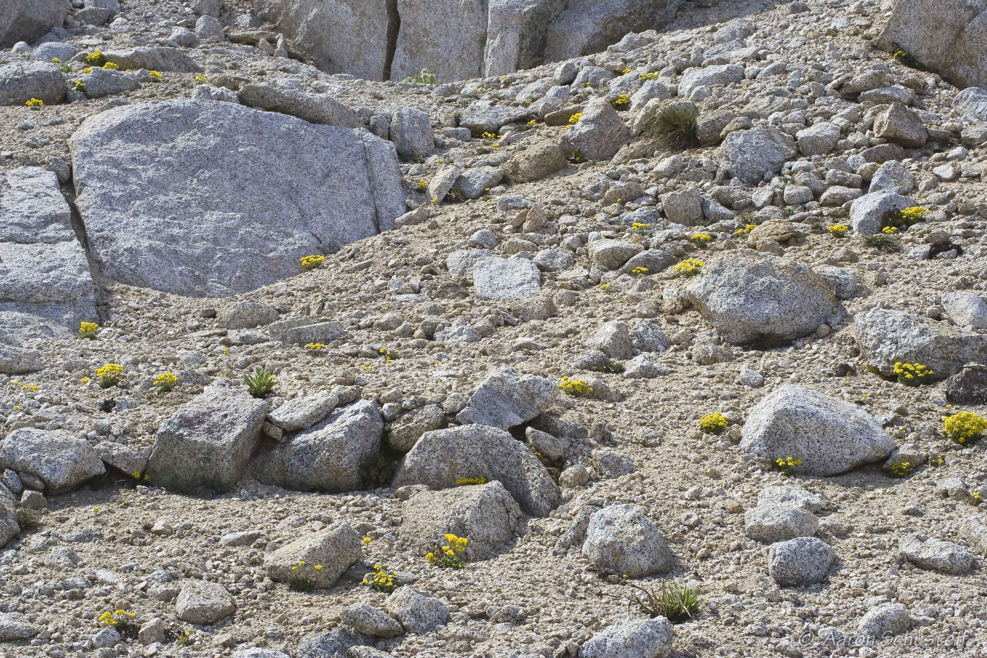
{"type": "Polygon", "coordinates": [[[837,475],[883,460],[897,447],[856,404],[796,385],[758,402],[740,432],[740,450],[759,458],[801,460],[796,473],[837,475]]]}

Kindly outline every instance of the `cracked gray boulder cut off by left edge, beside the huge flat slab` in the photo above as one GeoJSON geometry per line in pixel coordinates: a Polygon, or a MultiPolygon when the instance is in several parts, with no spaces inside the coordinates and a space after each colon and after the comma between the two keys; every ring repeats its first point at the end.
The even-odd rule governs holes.
{"type": "MultiPolygon", "coordinates": [[[[0,311],[42,317],[72,332],[80,321],[98,321],[89,262],[70,214],[53,173],[22,167],[0,174],[0,311]]],[[[0,354],[8,374],[40,369],[19,344],[0,345],[0,354]]]]}

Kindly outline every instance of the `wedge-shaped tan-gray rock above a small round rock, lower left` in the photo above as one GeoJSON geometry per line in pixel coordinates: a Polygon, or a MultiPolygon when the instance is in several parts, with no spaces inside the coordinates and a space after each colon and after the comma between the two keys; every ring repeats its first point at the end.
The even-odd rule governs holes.
{"type": "Polygon", "coordinates": [[[343,571],[362,558],[363,540],[359,534],[345,523],[336,522],[274,550],[266,556],[264,568],[267,577],[277,582],[304,578],[317,589],[328,589],[343,571]]]}

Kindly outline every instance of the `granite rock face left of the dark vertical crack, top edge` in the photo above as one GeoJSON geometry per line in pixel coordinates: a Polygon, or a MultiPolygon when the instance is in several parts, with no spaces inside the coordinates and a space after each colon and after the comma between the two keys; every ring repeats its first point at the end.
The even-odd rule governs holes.
{"type": "Polygon", "coordinates": [[[387,44],[397,37],[388,0],[258,0],[258,13],[327,73],[384,80],[387,44]]]}

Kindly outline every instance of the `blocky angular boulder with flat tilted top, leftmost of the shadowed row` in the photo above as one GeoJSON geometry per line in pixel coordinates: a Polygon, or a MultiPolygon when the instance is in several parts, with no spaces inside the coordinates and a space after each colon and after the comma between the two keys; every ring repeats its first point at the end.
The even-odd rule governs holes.
{"type": "Polygon", "coordinates": [[[210,386],[162,423],[147,461],[158,486],[228,491],[240,479],[261,436],[266,402],[210,386]]]}

